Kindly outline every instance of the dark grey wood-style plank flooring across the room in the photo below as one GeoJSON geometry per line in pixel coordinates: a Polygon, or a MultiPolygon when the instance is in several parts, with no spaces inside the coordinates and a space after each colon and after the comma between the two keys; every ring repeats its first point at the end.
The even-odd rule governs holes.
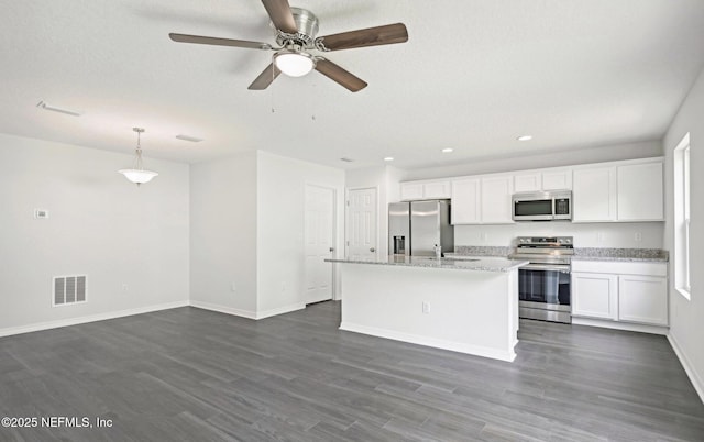
{"type": "Polygon", "coordinates": [[[521,321],[505,363],[339,322],[338,302],[257,322],[180,308],[0,339],[0,417],[40,419],[0,440],[704,441],[663,336],[521,321]]]}

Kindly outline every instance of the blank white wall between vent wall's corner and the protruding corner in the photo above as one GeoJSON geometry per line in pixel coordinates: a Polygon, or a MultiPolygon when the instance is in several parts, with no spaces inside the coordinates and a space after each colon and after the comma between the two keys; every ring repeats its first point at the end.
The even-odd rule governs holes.
{"type": "Polygon", "coordinates": [[[256,317],[256,153],[190,168],[190,299],[256,317]]]}

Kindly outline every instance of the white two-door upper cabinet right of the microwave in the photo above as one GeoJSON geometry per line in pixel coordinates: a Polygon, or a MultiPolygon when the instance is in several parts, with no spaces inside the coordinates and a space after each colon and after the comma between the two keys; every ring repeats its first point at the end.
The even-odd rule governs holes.
{"type": "Polygon", "coordinates": [[[575,168],[572,221],[662,221],[662,158],[575,168]]]}

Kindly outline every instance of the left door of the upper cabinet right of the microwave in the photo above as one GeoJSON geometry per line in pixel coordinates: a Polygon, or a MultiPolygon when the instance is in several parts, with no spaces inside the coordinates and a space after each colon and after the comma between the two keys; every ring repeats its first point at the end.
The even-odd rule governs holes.
{"type": "Polygon", "coordinates": [[[616,167],[581,168],[572,174],[573,222],[616,220],[616,167]]]}

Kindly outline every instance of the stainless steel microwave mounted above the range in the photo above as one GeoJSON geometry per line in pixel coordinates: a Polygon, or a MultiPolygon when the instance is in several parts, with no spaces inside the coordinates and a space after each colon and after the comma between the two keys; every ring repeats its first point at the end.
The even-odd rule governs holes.
{"type": "Polygon", "coordinates": [[[572,220],[572,191],[551,190],[514,194],[514,221],[572,220]]]}

